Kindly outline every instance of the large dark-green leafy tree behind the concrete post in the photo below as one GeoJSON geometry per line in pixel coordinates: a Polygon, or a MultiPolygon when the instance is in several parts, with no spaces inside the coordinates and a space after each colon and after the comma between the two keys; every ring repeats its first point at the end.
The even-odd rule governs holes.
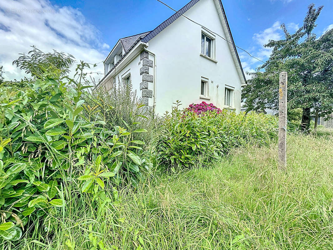
{"type": "Polygon", "coordinates": [[[309,5],[303,26],[289,34],[281,25],[285,39],[269,41],[270,58],[252,73],[242,90],[247,111],[278,109],[279,73],[288,73],[288,110],[303,110],[302,129],[309,131],[311,110],[319,116],[333,112],[333,29],[318,39],[312,33],[322,6],[309,5]],[[259,70],[264,70],[260,72],[259,70]]]}

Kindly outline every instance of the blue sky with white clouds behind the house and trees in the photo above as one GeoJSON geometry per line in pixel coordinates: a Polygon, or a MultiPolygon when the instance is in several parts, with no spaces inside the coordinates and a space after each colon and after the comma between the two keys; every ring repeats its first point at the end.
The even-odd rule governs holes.
{"type": "MultiPolygon", "coordinates": [[[[180,9],[188,1],[164,0],[174,9],[180,9]]],[[[236,45],[262,60],[266,60],[270,54],[270,50],[264,49],[263,44],[269,39],[283,38],[280,24],[286,23],[290,32],[295,31],[302,25],[307,6],[312,2],[316,7],[324,5],[315,29],[317,35],[321,35],[328,27],[333,28],[332,0],[222,1],[236,45]]],[[[55,48],[72,53],[77,59],[91,63],[102,61],[119,38],[152,30],[174,13],[156,0],[8,0],[0,3],[0,10],[0,35],[5,37],[4,41],[0,41],[0,47],[4,51],[12,51],[12,56],[5,54],[8,60],[17,58],[17,53],[27,52],[28,45],[37,45],[43,50],[55,48]],[[4,9],[13,6],[16,9],[40,8],[55,12],[25,15],[4,13],[4,9]],[[15,26],[13,21],[22,22],[26,27],[15,26]],[[46,35],[42,40],[36,35],[38,30],[46,35]],[[11,32],[24,37],[13,38],[11,32]],[[13,48],[15,39],[24,39],[25,42],[13,48]]],[[[0,56],[5,58],[3,53],[0,52],[0,56]]],[[[244,52],[238,50],[238,53],[244,71],[253,71],[260,65],[260,62],[244,52]]],[[[0,64],[6,64],[1,61],[1,57],[0,64]]],[[[13,67],[7,67],[8,77],[18,74],[13,67]]]]}

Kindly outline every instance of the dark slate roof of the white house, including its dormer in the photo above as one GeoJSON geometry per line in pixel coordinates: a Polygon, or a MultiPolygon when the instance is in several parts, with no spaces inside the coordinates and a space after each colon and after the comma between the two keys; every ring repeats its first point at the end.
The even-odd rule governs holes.
{"type": "MultiPolygon", "coordinates": [[[[150,32],[145,32],[145,33],[141,33],[141,34],[138,34],[138,35],[121,38],[120,41],[121,41],[121,43],[123,45],[123,48],[125,50],[125,54],[128,54],[134,48],[133,45],[137,44],[139,41],[148,43],[155,36],[157,36],[162,30],[164,30],[167,26],[169,26],[171,23],[173,23],[178,17],[180,17],[182,14],[184,14],[189,8],[191,8],[192,6],[194,6],[199,1],[200,0],[192,0],[192,1],[190,1],[188,4],[186,4],[184,7],[182,7],[180,10],[178,10],[176,13],[174,13],[172,16],[170,16],[168,19],[166,19],[163,23],[161,23],[159,26],[157,26],[154,30],[152,30],[150,32]],[[122,39],[123,39],[123,41],[122,41],[122,39]]],[[[237,57],[237,61],[239,63],[240,70],[242,72],[244,81],[246,81],[245,75],[244,75],[244,72],[243,72],[243,68],[241,66],[240,59],[239,59],[239,56],[238,56],[238,53],[237,53],[237,50],[236,50],[235,42],[234,42],[234,40],[232,38],[232,34],[231,34],[231,31],[230,31],[230,27],[229,27],[229,24],[228,24],[227,17],[225,15],[225,11],[224,11],[222,2],[221,2],[221,0],[218,0],[218,1],[220,3],[220,6],[221,6],[222,14],[223,14],[226,26],[227,26],[227,30],[228,30],[230,39],[231,39],[232,47],[233,47],[233,49],[234,49],[234,51],[236,53],[236,57],[237,57]]],[[[125,55],[123,55],[123,57],[117,62],[117,64],[120,63],[120,61],[124,57],[125,57],[125,55]]],[[[116,65],[109,72],[111,72],[115,67],[116,67],[116,65]]],[[[109,74],[109,72],[102,78],[101,81],[103,81],[103,79],[107,77],[107,75],[109,74]]]]}

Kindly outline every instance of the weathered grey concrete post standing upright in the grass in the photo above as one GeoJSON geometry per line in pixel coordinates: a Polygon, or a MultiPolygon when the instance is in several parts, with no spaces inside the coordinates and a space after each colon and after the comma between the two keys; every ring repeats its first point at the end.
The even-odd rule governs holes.
{"type": "Polygon", "coordinates": [[[279,169],[287,166],[287,72],[279,75],[279,169]]]}

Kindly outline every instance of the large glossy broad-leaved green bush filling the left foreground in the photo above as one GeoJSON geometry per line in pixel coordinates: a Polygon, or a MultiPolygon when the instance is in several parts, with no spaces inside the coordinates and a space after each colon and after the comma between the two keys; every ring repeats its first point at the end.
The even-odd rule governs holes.
{"type": "MultiPolygon", "coordinates": [[[[80,75],[84,66],[78,67],[80,75]]],[[[104,121],[87,119],[81,95],[90,86],[60,75],[58,70],[46,70],[23,90],[5,87],[6,82],[0,85],[0,236],[4,240],[18,240],[21,228],[38,218],[43,218],[46,231],[52,230],[49,215],[65,209],[71,197],[67,182],[96,194],[113,176],[136,184],[141,169],[150,166],[140,147],[145,143],[131,139],[132,133],[146,130],[128,132],[120,126],[111,130],[104,121]]]]}

